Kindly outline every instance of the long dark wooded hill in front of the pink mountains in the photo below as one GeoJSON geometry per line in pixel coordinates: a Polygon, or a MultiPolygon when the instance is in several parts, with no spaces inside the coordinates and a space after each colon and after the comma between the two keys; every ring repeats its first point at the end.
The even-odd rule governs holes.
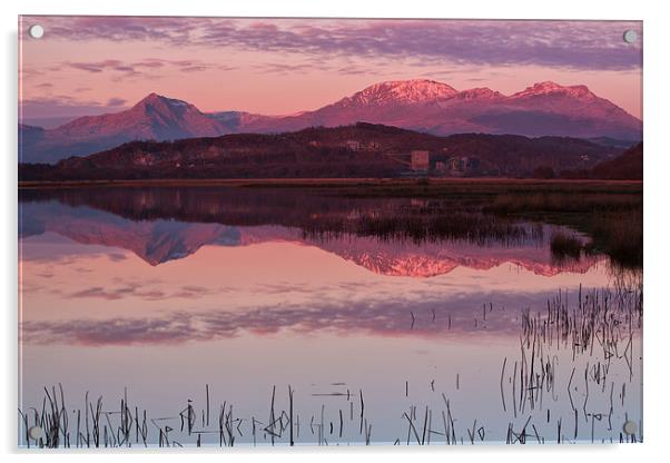
{"type": "Polygon", "coordinates": [[[413,174],[413,150],[428,151],[431,168],[440,170],[437,175],[450,175],[444,169],[450,159],[456,159],[470,160],[473,166],[460,175],[501,177],[528,177],[540,166],[554,171],[585,170],[620,152],[568,137],[439,137],[359,122],[276,135],[132,141],[87,157],[70,157],[55,166],[21,165],[19,175],[22,180],[397,177],[413,174]]]}

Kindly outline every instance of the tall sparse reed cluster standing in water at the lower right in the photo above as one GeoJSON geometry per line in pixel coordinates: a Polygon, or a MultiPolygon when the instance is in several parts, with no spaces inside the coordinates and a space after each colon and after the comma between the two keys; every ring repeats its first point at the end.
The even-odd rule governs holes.
{"type": "MultiPolygon", "coordinates": [[[[559,293],[548,301],[545,311],[526,308],[521,317],[520,356],[513,367],[511,359],[502,363],[503,410],[508,411],[506,404],[510,404],[514,418],[546,410],[549,422],[552,405],[561,394],[566,394],[571,413],[555,418],[556,443],[577,440],[580,426],[587,426],[587,432],[590,428],[592,443],[597,442],[597,423],[600,428],[614,431],[615,420],[621,416],[614,391],[621,391],[623,407],[627,385],[635,375],[633,336],[641,322],[640,282],[590,292],[582,292],[580,287],[572,298],[559,293]],[[558,370],[560,351],[572,356],[569,377],[561,377],[558,370]],[[617,365],[628,374],[618,375],[617,365]],[[508,382],[511,387],[505,387],[508,382]],[[570,428],[565,426],[568,423],[570,428]]],[[[621,433],[619,437],[620,442],[640,440],[635,435],[624,440],[621,433]]],[[[538,439],[544,437],[538,435],[538,439]]]]}

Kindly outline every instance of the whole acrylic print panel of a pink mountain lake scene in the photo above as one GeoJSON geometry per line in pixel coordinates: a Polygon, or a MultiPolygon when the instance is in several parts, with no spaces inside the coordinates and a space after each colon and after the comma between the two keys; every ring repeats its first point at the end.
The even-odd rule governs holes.
{"type": "Polygon", "coordinates": [[[19,31],[20,446],[642,440],[641,22],[19,31]]]}

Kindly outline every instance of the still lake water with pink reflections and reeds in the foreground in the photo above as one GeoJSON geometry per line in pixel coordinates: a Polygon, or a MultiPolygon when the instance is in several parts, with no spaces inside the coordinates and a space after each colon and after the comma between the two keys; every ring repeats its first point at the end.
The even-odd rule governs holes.
{"type": "Polygon", "coordinates": [[[99,445],[630,439],[641,272],[558,259],[553,233],[589,237],[550,224],[370,232],[433,206],[297,189],[21,191],[28,425],[51,398],[59,444],[93,445],[85,416],[102,397],[99,445]]]}

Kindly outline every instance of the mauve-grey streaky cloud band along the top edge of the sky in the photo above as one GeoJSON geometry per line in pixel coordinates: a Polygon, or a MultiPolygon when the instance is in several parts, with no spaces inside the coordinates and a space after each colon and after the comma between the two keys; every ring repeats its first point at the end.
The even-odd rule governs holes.
{"type": "Polygon", "coordinates": [[[461,65],[639,69],[640,21],[303,20],[24,17],[55,40],[151,41],[313,56],[413,57],[461,65]]]}

